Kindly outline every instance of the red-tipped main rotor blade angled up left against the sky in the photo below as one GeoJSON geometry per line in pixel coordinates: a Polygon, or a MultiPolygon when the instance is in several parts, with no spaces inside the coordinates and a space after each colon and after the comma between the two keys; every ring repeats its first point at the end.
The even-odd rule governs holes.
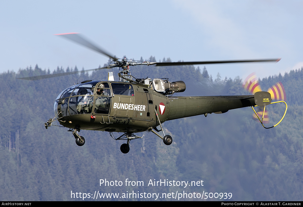
{"type": "Polygon", "coordinates": [[[82,37],[79,33],[62,33],[62,34],[55,34],[55,35],[59,35],[61,37],[65,37],[69,40],[72,40],[80,45],[86,46],[90,49],[93,49],[103,55],[108,56],[109,58],[115,60],[117,59],[114,55],[106,52],[104,49],[101,49],[100,47],[95,46],[95,44],[89,42],[88,40],[85,40],[84,37],[82,37]]]}

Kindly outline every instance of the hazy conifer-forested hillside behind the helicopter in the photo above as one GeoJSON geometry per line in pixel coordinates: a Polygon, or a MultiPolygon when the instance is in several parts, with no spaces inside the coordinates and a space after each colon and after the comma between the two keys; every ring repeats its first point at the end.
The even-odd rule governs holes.
{"type": "MultiPolygon", "coordinates": [[[[155,57],[148,59],[155,62],[155,57]]],[[[161,61],[170,61],[162,59],[161,61]]],[[[222,66],[224,67],[224,66],[222,66]]],[[[260,80],[266,91],[281,81],[287,94],[288,111],[272,129],[252,119],[253,110],[243,108],[224,114],[209,114],[167,121],[169,146],[152,133],[131,142],[128,154],[121,141],[108,132],[81,131],[85,145],[78,147],[67,128],[44,123],[54,116],[58,94],[84,80],[106,80],[106,70],[38,81],[16,77],[78,70],[42,70],[36,65],[0,74],[0,200],[75,201],[71,192],[91,193],[232,193],[226,201],[297,201],[303,197],[303,68],[260,80]],[[122,186],[100,186],[100,179],[122,181],[122,186]],[[143,181],[144,186],[125,186],[125,180],[143,181]],[[203,186],[148,186],[150,180],[201,181],[203,186]]],[[[113,71],[114,74],[118,71],[113,71]]],[[[183,80],[185,95],[244,95],[240,78],[209,77],[206,68],[194,66],[132,69],[136,78],[183,80]]],[[[115,77],[117,79],[117,77],[115,77]]],[[[285,106],[268,107],[271,124],[283,115],[285,106]]],[[[93,200],[85,198],[84,200],[93,200]]],[[[155,200],[155,198],[104,198],[98,200],[155,200]]],[[[175,200],[158,198],[157,200],[175,200]]],[[[201,200],[187,198],[180,200],[201,200]]],[[[204,199],[203,199],[204,200],[204,199]]],[[[208,198],[206,200],[223,200],[208,198]]]]}

